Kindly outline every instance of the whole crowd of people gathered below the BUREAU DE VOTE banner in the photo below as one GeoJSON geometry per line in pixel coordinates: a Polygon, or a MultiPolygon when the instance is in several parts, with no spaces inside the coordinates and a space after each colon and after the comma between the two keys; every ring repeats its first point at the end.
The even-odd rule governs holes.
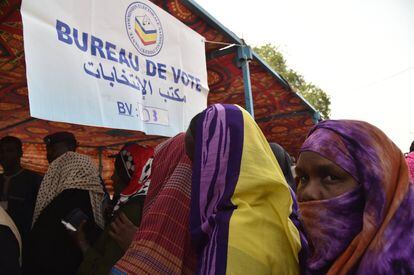
{"type": "Polygon", "coordinates": [[[413,274],[414,142],[326,120],[297,161],[236,105],[114,155],[113,194],[73,134],[45,175],[0,140],[0,274],[413,274]]]}

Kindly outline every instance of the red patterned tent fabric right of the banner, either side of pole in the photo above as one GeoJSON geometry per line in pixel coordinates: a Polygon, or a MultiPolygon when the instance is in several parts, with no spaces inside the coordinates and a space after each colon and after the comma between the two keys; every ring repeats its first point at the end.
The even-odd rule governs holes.
{"type": "MultiPolygon", "coordinates": [[[[243,76],[235,65],[235,58],[231,54],[208,62],[209,104],[231,102],[245,106],[243,76]]],[[[314,125],[308,107],[257,60],[250,63],[250,74],[257,123],[269,141],[281,144],[296,156],[306,133],[314,125]]]]}

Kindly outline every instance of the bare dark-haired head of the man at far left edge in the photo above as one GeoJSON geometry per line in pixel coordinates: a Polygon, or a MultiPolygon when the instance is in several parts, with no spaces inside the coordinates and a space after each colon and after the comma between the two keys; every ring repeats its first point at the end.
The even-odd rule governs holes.
{"type": "Polygon", "coordinates": [[[6,136],[0,140],[0,164],[5,171],[20,166],[22,156],[23,150],[20,139],[6,136]]]}

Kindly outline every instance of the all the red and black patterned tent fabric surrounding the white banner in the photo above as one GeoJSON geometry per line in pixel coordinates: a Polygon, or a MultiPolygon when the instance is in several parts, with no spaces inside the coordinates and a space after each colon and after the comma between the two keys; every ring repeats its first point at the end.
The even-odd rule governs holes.
{"type": "MultiPolygon", "coordinates": [[[[241,40],[201,10],[192,0],[153,0],[178,20],[200,33],[207,41],[238,44],[241,40]]],[[[25,143],[23,162],[27,167],[44,172],[47,168],[43,137],[56,131],[70,131],[80,142],[80,152],[102,157],[103,178],[109,182],[112,160],[107,156],[128,141],[155,146],[163,137],[141,132],[88,127],[50,122],[30,117],[27,97],[23,49],[21,0],[0,1],[0,137],[15,135],[25,143]],[[99,149],[98,149],[99,148],[99,149]],[[100,153],[99,153],[100,152],[100,153]]],[[[235,50],[220,51],[224,46],[206,43],[208,103],[235,103],[244,106],[241,70],[237,67],[235,50]]],[[[232,50],[233,49],[233,50],[232,50]]],[[[313,125],[311,106],[304,102],[276,73],[257,57],[250,62],[255,118],[265,136],[296,155],[306,133],[313,125]]]]}

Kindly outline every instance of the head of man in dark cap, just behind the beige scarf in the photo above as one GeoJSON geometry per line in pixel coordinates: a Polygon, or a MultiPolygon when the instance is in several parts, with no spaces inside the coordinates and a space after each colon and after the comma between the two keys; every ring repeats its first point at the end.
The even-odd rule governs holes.
{"type": "Polygon", "coordinates": [[[46,136],[44,139],[49,163],[68,151],[76,151],[78,143],[75,136],[69,132],[57,132],[46,136]]]}

